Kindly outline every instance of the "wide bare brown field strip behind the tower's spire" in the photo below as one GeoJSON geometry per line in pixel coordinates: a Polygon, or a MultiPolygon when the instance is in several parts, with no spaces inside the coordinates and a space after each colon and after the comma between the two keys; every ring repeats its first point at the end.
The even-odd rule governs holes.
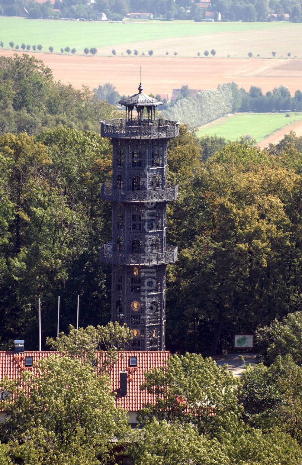
{"type": "MultiPolygon", "coordinates": [[[[12,56],[10,51],[2,55],[12,56]]],[[[120,94],[133,94],[142,68],[144,92],[171,96],[172,89],[187,84],[191,89],[213,89],[236,82],[248,90],[259,86],[263,92],[275,86],[289,87],[291,94],[302,87],[302,60],[183,57],[102,57],[33,53],[53,70],[55,80],[90,88],[112,83],[120,94]]]]}

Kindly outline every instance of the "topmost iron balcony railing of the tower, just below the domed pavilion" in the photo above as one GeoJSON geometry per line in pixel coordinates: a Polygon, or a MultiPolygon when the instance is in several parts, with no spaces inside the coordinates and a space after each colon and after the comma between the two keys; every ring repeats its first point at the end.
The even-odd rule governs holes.
{"type": "Polygon", "coordinates": [[[171,120],[125,121],[124,118],[101,121],[101,135],[116,139],[168,139],[179,134],[179,123],[171,120]]]}

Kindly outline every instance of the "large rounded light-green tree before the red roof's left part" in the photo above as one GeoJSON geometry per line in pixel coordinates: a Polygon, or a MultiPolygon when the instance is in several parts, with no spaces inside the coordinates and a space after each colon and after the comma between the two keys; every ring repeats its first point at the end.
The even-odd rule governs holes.
{"type": "MultiPolygon", "coordinates": [[[[98,375],[90,363],[56,355],[42,359],[38,372],[37,377],[22,373],[21,386],[26,383],[31,396],[19,389],[6,405],[0,437],[14,440],[13,459],[21,456],[28,463],[26,457],[34,453],[30,463],[41,465],[57,463],[56,456],[62,464],[112,463],[128,422],[125,411],[114,405],[107,375],[98,375]]],[[[13,394],[12,384],[9,389],[13,394]]]]}

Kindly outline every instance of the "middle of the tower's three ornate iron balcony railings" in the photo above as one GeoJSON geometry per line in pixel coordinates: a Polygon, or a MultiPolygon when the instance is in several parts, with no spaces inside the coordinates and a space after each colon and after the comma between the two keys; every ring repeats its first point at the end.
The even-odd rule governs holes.
{"type": "Polygon", "coordinates": [[[178,197],[178,184],[167,184],[165,189],[113,189],[112,182],[105,182],[101,187],[101,198],[116,202],[169,202],[178,197]]]}

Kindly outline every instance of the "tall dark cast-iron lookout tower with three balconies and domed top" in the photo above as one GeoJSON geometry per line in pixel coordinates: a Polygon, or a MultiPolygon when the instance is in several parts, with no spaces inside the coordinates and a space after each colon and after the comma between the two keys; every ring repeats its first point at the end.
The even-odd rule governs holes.
{"type": "Polygon", "coordinates": [[[101,121],[102,136],[112,138],[113,179],[101,189],[112,200],[112,241],[100,256],[112,264],[112,321],[131,328],[131,348],[164,350],[165,271],[177,259],[166,244],[166,204],[178,195],[166,180],[167,141],[178,123],[156,118],[162,102],[142,89],[118,102],[125,119],[101,121]]]}

